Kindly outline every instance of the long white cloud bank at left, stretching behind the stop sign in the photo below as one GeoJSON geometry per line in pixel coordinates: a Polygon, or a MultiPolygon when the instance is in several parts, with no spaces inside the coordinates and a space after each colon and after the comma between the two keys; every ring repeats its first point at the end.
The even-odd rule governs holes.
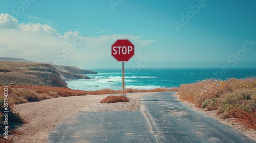
{"type": "Polygon", "coordinates": [[[141,36],[127,34],[82,37],[79,31],[60,35],[49,25],[18,23],[8,14],[0,15],[0,57],[22,57],[58,64],[113,60],[110,46],[116,39],[130,39],[138,50],[155,40],[140,40],[141,36]]]}

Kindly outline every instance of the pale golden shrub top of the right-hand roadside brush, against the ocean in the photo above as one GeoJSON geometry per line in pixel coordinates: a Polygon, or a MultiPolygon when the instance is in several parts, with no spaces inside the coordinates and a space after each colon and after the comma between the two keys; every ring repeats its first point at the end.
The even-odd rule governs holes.
{"type": "Polygon", "coordinates": [[[256,78],[228,79],[222,80],[203,80],[197,83],[182,84],[178,90],[181,100],[190,101],[201,107],[207,99],[219,98],[224,93],[232,92],[236,89],[256,90],[256,78]]]}

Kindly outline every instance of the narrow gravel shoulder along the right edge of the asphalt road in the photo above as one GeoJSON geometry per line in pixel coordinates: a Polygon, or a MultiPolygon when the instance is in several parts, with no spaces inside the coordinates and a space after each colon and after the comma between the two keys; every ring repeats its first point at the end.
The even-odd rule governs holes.
{"type": "MultiPolygon", "coordinates": [[[[179,97],[179,95],[177,95],[179,97]]],[[[182,101],[182,100],[181,100],[182,101]]],[[[248,138],[255,140],[256,141],[256,130],[253,129],[248,129],[246,128],[244,125],[236,122],[235,118],[221,118],[221,114],[217,115],[216,110],[212,110],[212,111],[206,111],[206,109],[202,109],[202,108],[198,108],[195,105],[191,104],[188,101],[182,101],[184,104],[186,104],[187,106],[194,108],[195,110],[210,116],[212,118],[215,118],[217,121],[219,121],[220,123],[223,123],[227,126],[232,127],[234,130],[240,131],[242,134],[244,134],[245,136],[247,136],[248,138]]]]}

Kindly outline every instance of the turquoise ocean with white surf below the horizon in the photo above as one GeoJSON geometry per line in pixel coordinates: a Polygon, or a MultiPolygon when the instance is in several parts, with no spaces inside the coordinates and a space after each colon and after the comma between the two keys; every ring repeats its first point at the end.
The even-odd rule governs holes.
{"type": "MultiPolygon", "coordinates": [[[[87,68],[88,69],[88,68],[87,68]]],[[[91,80],[67,81],[68,87],[80,90],[99,90],[103,88],[122,89],[122,70],[88,69],[96,71],[97,75],[87,75],[91,80]]],[[[172,88],[181,84],[195,83],[205,79],[247,78],[255,77],[256,68],[143,68],[125,69],[125,88],[152,89],[172,88]]]]}

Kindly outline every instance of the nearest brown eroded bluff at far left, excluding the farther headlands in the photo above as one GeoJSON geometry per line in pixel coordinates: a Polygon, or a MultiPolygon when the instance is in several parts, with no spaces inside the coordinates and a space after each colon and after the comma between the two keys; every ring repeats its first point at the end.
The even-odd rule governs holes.
{"type": "Polygon", "coordinates": [[[0,61],[0,84],[12,83],[67,87],[56,68],[50,64],[0,61]]]}

